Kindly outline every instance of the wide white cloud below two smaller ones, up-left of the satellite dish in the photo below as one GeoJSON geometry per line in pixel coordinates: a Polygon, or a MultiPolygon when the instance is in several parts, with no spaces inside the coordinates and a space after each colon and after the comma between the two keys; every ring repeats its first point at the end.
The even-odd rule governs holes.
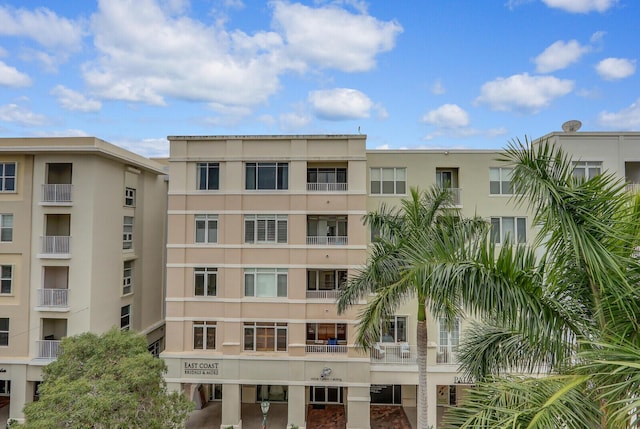
{"type": "Polygon", "coordinates": [[[569,94],[573,87],[574,82],[567,79],[516,74],[482,85],[476,102],[487,104],[493,110],[536,113],[556,98],[569,94]]]}

